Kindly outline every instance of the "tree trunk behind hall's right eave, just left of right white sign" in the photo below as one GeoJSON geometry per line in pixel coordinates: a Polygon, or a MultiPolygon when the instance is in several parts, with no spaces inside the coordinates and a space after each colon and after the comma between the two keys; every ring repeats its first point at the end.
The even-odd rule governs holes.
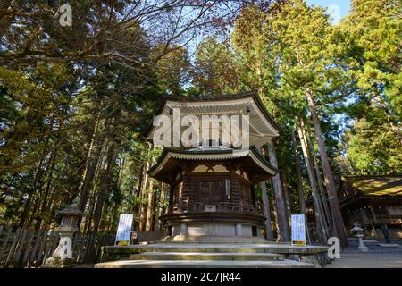
{"type": "MultiPolygon", "coordinates": [[[[267,144],[268,154],[270,157],[270,163],[273,167],[278,168],[278,161],[276,159],[275,148],[272,140],[267,144]]],[[[279,172],[272,177],[273,192],[275,196],[276,218],[278,227],[278,239],[279,241],[289,241],[289,224],[286,219],[285,202],[283,199],[281,177],[279,172]]]]}

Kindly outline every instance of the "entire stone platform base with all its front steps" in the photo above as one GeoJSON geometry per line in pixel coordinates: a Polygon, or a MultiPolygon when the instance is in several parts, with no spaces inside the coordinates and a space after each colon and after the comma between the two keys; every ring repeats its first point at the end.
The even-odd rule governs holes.
{"type": "Polygon", "coordinates": [[[287,243],[166,242],[102,248],[96,268],[321,267],[331,263],[325,246],[287,243]]]}

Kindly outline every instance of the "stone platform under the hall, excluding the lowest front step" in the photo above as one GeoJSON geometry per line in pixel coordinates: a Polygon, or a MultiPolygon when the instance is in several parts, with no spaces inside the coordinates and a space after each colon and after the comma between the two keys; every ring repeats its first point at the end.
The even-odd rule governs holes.
{"type": "MultiPolygon", "coordinates": [[[[331,263],[327,255],[326,246],[305,246],[297,247],[289,243],[268,243],[268,242],[157,242],[147,245],[130,245],[103,247],[101,262],[127,260],[133,261],[149,257],[170,261],[181,260],[203,260],[210,261],[243,261],[244,265],[253,265],[253,261],[260,260],[259,257],[272,260],[295,261],[295,263],[314,265],[321,267],[331,263]],[[150,254],[153,254],[152,256],[150,254]],[[197,254],[195,257],[190,257],[197,254]],[[269,256],[266,258],[265,256],[269,256]],[[142,258],[141,258],[142,257],[142,258]],[[159,257],[159,258],[156,258],[159,257]],[[230,259],[229,259],[230,257],[230,259]],[[169,258],[169,259],[168,259],[169,258]]],[[[195,263],[195,262],[194,262],[195,263]]],[[[239,265],[239,263],[237,264],[239,265]]]]}

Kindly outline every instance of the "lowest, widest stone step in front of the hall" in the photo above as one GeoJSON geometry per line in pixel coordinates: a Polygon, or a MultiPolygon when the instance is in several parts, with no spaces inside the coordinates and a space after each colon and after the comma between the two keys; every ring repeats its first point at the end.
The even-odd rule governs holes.
{"type": "Polygon", "coordinates": [[[95,268],[315,268],[309,263],[294,260],[118,260],[98,263],[95,268]]]}

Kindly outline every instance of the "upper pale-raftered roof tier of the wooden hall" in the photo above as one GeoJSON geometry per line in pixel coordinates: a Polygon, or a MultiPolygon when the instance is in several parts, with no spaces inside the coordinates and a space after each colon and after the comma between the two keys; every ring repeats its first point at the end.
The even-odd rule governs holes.
{"type": "MultiPolygon", "coordinates": [[[[180,116],[201,115],[249,115],[249,145],[261,146],[272,137],[279,136],[279,127],[272,120],[255,91],[219,97],[164,97],[156,115],[164,114],[172,119],[172,108],[180,108],[180,116]]],[[[147,138],[152,139],[156,127],[150,126],[147,138]]]]}

